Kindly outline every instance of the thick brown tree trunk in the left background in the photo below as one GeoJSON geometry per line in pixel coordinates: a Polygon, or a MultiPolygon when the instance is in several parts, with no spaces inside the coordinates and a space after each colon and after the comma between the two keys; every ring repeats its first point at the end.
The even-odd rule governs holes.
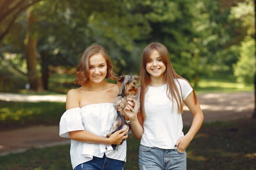
{"type": "Polygon", "coordinates": [[[38,76],[37,65],[37,33],[33,29],[36,17],[31,15],[31,9],[27,11],[27,32],[25,39],[25,55],[27,59],[27,71],[28,71],[28,80],[30,85],[30,90],[42,92],[43,84],[41,77],[38,76]]]}

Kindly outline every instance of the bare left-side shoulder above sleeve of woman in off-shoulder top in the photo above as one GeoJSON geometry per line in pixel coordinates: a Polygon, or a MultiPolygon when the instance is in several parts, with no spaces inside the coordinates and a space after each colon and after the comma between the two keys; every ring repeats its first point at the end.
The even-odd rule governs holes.
{"type": "Polygon", "coordinates": [[[71,89],[67,92],[66,109],[80,107],[80,91],[79,88],[71,89]]]}

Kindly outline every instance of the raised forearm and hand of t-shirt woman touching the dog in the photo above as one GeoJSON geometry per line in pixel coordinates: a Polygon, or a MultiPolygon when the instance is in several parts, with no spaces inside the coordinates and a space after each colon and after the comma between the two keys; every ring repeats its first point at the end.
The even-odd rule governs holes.
{"type": "Polygon", "coordinates": [[[132,99],[128,99],[128,104],[124,108],[124,112],[131,122],[132,134],[138,139],[141,139],[144,132],[143,117],[142,114],[138,112],[138,106],[136,102],[132,102],[132,99]],[[134,108],[132,106],[134,106],[134,108]]]}

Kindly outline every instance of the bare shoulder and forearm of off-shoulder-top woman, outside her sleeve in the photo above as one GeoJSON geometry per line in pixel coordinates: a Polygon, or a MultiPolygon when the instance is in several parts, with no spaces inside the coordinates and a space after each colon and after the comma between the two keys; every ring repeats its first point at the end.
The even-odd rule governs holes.
{"type": "MultiPolygon", "coordinates": [[[[76,89],[71,89],[67,93],[67,99],[66,99],[66,109],[70,108],[80,108],[80,93],[76,89]]],[[[123,139],[126,139],[128,137],[127,132],[129,129],[124,130],[121,129],[114,134],[112,134],[109,138],[106,138],[106,144],[121,144],[123,139]]],[[[86,130],[76,130],[69,132],[70,139],[76,140],[76,141],[82,141],[86,143],[91,144],[105,144],[105,137],[101,137],[98,135],[94,135],[91,132],[88,132],[86,130]]]]}

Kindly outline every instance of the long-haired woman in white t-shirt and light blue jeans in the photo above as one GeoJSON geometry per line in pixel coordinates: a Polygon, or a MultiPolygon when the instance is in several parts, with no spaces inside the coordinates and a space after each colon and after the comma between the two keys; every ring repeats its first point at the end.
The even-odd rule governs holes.
{"type": "Polygon", "coordinates": [[[140,170],[186,170],[185,150],[204,119],[195,92],[175,73],[168,50],[161,43],[144,49],[140,77],[140,112],[126,113],[133,134],[141,139],[140,170]],[[183,102],[193,115],[186,135],[182,132],[183,102]]]}

